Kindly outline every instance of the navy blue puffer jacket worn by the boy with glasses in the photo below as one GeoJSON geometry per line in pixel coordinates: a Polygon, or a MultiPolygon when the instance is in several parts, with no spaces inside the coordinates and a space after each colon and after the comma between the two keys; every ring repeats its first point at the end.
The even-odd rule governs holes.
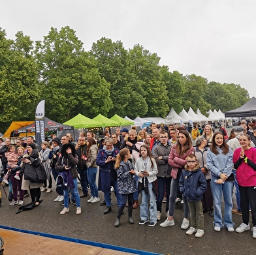
{"type": "Polygon", "coordinates": [[[207,183],[201,169],[195,171],[184,170],[179,181],[180,192],[187,201],[200,201],[204,194],[207,183]]]}

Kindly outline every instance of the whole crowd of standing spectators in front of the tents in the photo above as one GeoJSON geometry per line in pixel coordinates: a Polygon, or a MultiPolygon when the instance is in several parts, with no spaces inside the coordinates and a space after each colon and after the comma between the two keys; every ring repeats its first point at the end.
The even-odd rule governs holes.
{"type": "Polygon", "coordinates": [[[214,217],[216,232],[222,228],[238,233],[251,230],[256,238],[255,125],[242,120],[230,136],[225,127],[215,132],[209,124],[197,124],[190,133],[185,125],[157,127],[155,123],[138,133],[133,127],[116,128],[112,134],[104,130],[103,135],[99,142],[93,132],[80,132],[77,142],[71,134],[61,138],[54,135],[50,143],[41,143],[41,149],[33,136],[18,139],[16,146],[9,138],[1,139],[1,177],[13,194],[10,206],[23,205],[29,194],[38,206],[40,193],[52,192],[55,181],[54,202],[63,205],[61,215],[69,212],[69,203],[80,215],[82,198],[88,197],[88,203],[100,202],[99,190],[104,194],[99,204],[106,206],[106,215],[112,211],[114,190],[119,208],[113,222],[116,227],[125,207],[130,224],[135,223],[133,209],[139,207],[138,224],[153,227],[164,211],[166,219],[160,226],[174,226],[176,203],[182,200],[184,219],[180,227],[187,235],[204,235],[204,213],[208,213],[214,217]],[[36,178],[35,172],[41,178],[36,178]],[[234,187],[237,209],[232,204],[234,187]],[[163,202],[167,202],[165,208],[163,202]],[[242,215],[242,224],[235,230],[232,213],[242,215]]]}

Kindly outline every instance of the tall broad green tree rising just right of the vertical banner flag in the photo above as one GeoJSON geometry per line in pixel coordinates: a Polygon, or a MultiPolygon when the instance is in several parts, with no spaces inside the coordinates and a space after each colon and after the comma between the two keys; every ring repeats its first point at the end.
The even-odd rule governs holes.
{"type": "Polygon", "coordinates": [[[46,113],[59,122],[82,113],[95,117],[112,108],[110,85],[101,78],[93,57],[84,52],[70,27],[51,28],[37,42],[35,57],[40,66],[46,113]]]}

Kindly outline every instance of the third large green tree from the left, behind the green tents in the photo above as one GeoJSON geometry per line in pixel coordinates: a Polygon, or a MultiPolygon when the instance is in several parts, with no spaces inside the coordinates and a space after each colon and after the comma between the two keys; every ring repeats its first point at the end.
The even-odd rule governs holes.
{"type": "Polygon", "coordinates": [[[120,41],[101,38],[93,43],[91,54],[97,59],[101,76],[110,83],[113,108],[108,117],[114,114],[133,118],[148,112],[140,80],[131,72],[131,61],[127,50],[120,41]]]}

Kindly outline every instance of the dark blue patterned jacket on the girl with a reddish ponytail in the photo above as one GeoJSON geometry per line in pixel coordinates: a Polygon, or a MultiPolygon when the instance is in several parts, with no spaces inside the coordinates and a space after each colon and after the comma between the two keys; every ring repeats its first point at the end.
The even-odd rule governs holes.
{"type": "Polygon", "coordinates": [[[129,171],[133,169],[131,162],[120,162],[120,167],[116,169],[118,175],[118,192],[120,194],[131,194],[136,191],[135,178],[129,171]]]}

